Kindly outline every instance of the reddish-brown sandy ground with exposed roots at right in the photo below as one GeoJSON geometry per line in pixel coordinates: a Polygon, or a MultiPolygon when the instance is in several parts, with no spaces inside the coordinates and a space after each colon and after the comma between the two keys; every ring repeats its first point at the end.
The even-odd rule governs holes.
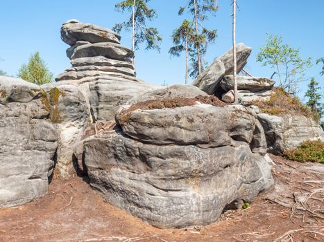
{"type": "Polygon", "coordinates": [[[157,229],[75,177],[54,179],[37,201],[0,210],[0,241],[324,241],[324,165],[271,158],[275,188],[205,227],[157,229]]]}

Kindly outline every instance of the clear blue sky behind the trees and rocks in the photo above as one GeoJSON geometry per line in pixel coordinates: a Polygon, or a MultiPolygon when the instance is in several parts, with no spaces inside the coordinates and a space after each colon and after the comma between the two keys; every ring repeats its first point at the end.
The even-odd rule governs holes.
{"type": "MultiPolygon", "coordinates": [[[[216,44],[210,45],[205,59],[212,60],[223,54],[232,44],[231,0],[219,0],[216,17],[210,17],[207,26],[217,28],[216,44]]],[[[16,75],[23,63],[36,50],[49,69],[58,75],[71,66],[65,55],[67,44],[60,39],[60,26],[67,19],[96,24],[106,28],[128,17],[114,10],[117,0],[1,0],[0,8],[0,69],[16,75]]],[[[142,48],[137,52],[137,75],[146,82],[176,84],[185,82],[184,56],[171,58],[168,50],[171,33],[183,20],[177,15],[179,6],[187,0],[152,0],[149,5],[157,10],[158,19],[149,23],[160,30],[164,39],[161,53],[142,48]]],[[[241,12],[237,16],[237,42],[253,47],[246,70],[255,76],[269,77],[273,71],[255,61],[266,32],[282,34],[284,42],[300,48],[302,57],[313,60],[324,56],[324,1],[323,0],[238,0],[241,12]]],[[[121,43],[130,47],[130,33],[121,34],[121,43]]],[[[324,91],[323,79],[318,73],[321,66],[313,66],[307,77],[318,77],[324,91]]],[[[302,93],[307,83],[300,85],[302,93]]]]}

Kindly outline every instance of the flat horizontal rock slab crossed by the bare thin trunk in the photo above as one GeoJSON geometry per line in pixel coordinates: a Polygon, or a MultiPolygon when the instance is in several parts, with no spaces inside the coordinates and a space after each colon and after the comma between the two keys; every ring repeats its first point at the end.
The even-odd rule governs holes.
{"type": "MultiPolygon", "coordinates": [[[[266,77],[237,76],[237,89],[248,91],[264,91],[273,87],[275,81],[266,77]]],[[[222,89],[229,91],[234,89],[233,75],[225,75],[221,81],[222,89]]]]}

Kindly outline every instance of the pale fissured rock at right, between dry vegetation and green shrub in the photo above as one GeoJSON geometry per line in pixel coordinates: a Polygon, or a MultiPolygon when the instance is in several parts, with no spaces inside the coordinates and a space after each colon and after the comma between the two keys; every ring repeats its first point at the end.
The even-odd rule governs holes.
{"type": "Polygon", "coordinates": [[[279,117],[267,113],[258,113],[257,117],[264,128],[271,153],[282,155],[307,140],[324,142],[323,129],[312,118],[301,115],[279,117]]]}

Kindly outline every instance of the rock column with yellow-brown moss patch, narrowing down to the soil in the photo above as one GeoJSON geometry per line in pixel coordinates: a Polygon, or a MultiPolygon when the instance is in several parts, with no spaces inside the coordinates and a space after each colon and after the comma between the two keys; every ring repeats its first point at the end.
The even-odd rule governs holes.
{"type": "Polygon", "coordinates": [[[77,86],[71,84],[46,84],[51,104],[51,122],[59,135],[56,156],[56,174],[67,178],[76,174],[74,146],[80,142],[89,126],[90,109],[87,100],[77,86]]]}

